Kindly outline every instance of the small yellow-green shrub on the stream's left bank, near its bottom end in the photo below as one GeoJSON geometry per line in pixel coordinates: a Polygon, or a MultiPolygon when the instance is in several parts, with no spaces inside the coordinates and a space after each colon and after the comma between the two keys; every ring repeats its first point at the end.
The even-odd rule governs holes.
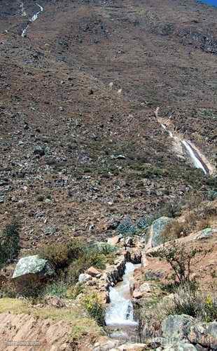
{"type": "Polygon", "coordinates": [[[86,295],[83,299],[83,305],[87,313],[92,317],[97,324],[104,326],[104,307],[99,301],[99,297],[96,293],[86,295]]]}

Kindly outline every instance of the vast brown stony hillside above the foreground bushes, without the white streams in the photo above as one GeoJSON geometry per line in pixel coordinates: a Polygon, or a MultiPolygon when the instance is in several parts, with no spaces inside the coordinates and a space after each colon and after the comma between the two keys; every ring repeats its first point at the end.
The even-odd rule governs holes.
{"type": "Polygon", "coordinates": [[[216,10],[42,0],[23,38],[38,11],[24,3],[27,17],[17,1],[0,4],[2,227],[18,216],[25,249],[100,239],[113,220],[206,191],[153,111],[174,112],[174,126],[215,162],[216,10]]]}

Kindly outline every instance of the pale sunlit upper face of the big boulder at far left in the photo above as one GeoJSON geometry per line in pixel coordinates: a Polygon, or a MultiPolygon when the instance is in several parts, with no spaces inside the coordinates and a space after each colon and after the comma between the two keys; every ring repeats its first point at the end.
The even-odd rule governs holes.
{"type": "Polygon", "coordinates": [[[27,256],[20,258],[18,264],[13,272],[13,279],[24,277],[28,274],[41,274],[44,277],[54,274],[55,271],[52,269],[48,260],[38,258],[38,255],[27,256]]]}

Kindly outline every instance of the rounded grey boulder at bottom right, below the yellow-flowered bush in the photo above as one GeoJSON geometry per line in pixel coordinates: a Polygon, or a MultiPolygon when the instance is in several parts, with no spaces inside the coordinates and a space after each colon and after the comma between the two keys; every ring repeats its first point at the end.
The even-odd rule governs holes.
{"type": "Polygon", "coordinates": [[[187,314],[170,315],[162,322],[162,336],[182,340],[190,331],[190,324],[194,322],[193,317],[187,314]]]}

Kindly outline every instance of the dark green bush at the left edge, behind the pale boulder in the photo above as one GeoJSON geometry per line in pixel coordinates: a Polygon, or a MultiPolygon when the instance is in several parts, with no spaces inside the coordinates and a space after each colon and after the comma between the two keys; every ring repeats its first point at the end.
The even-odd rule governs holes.
{"type": "Polygon", "coordinates": [[[0,234],[0,267],[12,262],[20,252],[18,223],[7,225],[0,234]]]}

